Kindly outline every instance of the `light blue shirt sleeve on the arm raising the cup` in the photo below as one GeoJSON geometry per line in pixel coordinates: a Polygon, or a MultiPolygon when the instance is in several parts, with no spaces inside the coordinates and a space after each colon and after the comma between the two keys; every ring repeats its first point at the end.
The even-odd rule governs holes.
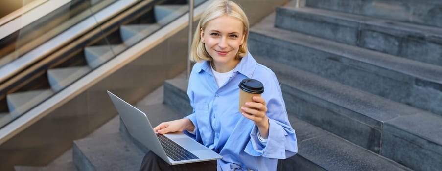
{"type": "MultiPolygon", "coordinates": [[[[272,82],[263,82],[266,88],[262,94],[267,101],[267,117],[269,118],[269,136],[266,145],[260,143],[255,126],[250,133],[250,141],[245,152],[252,156],[262,156],[272,159],[285,159],[298,152],[295,130],[290,125],[282,98],[282,92],[273,72],[272,82]],[[267,91],[267,92],[266,92],[267,91]]],[[[270,80],[270,79],[269,79],[270,80]]]]}

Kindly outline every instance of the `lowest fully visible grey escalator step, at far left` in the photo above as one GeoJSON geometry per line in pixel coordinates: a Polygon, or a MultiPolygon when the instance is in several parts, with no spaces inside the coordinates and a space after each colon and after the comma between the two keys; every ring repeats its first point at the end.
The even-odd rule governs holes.
{"type": "Polygon", "coordinates": [[[6,95],[9,113],[17,117],[54,94],[52,89],[32,90],[6,95]]]}

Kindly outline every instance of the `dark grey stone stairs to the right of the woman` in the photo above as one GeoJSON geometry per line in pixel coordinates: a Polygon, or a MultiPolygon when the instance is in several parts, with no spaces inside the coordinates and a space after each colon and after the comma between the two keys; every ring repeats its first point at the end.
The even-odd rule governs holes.
{"type": "MultiPolygon", "coordinates": [[[[306,7],[279,7],[250,30],[249,50],[278,76],[289,115],[339,137],[299,138],[299,156],[282,161],[283,167],[442,168],[442,29],[433,21],[401,22],[394,14],[379,19],[369,12],[385,3],[395,9],[419,3],[422,10],[442,4],[306,0],[306,7]],[[381,159],[371,163],[370,155],[347,147],[381,159]]],[[[300,136],[310,129],[295,130],[300,136]]]]}

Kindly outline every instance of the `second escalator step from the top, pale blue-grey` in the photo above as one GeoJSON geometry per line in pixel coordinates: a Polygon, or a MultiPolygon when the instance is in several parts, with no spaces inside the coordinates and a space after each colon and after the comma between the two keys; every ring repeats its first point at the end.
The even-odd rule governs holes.
{"type": "Polygon", "coordinates": [[[160,24],[131,24],[120,27],[121,38],[127,46],[131,46],[144,39],[160,28],[160,24]]]}

